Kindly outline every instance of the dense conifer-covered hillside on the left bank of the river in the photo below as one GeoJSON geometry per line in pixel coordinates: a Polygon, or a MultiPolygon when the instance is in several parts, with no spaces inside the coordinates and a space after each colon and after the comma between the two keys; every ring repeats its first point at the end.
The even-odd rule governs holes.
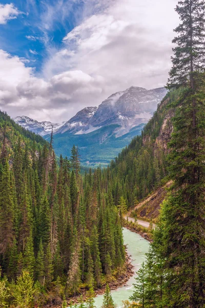
{"type": "Polygon", "coordinates": [[[115,279],[125,247],[101,170],[82,177],[75,146],[58,166],[52,140],[4,113],[0,123],[0,306],[60,302],[115,279]]]}

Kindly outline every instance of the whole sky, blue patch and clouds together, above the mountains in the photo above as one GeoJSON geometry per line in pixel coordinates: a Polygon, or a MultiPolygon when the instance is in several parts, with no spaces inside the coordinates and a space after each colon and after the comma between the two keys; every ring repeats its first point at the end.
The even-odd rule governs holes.
{"type": "Polygon", "coordinates": [[[59,123],[131,86],[165,86],[176,4],[0,0],[0,109],[59,123]]]}

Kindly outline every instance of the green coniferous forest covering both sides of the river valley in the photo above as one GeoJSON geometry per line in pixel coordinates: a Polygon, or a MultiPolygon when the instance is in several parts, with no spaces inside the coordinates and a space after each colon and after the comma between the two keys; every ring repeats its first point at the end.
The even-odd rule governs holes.
{"type": "MultiPolygon", "coordinates": [[[[80,170],[80,151],[0,112],[0,307],[41,307],[106,285],[125,271],[127,209],[171,182],[146,261],[125,307],[205,307],[205,2],[176,6],[168,94],[110,165],[80,170]],[[161,136],[162,128],[166,128],[161,136]]],[[[84,300],[80,299],[80,308],[84,300]]],[[[72,304],[71,304],[72,307],[72,304]]]]}

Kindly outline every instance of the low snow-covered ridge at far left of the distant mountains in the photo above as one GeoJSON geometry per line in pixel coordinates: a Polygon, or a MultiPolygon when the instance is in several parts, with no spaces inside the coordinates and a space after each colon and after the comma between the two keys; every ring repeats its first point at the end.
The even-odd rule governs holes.
{"type": "Polygon", "coordinates": [[[25,115],[23,115],[22,117],[16,117],[13,120],[14,120],[15,123],[19,124],[20,126],[24,127],[25,129],[28,129],[32,132],[35,132],[42,137],[51,133],[52,126],[53,126],[53,131],[55,132],[57,129],[59,129],[65,123],[65,122],[63,122],[61,124],[58,124],[58,123],[51,123],[51,122],[48,122],[48,121],[38,122],[38,121],[33,120],[29,117],[26,117],[25,115]]]}

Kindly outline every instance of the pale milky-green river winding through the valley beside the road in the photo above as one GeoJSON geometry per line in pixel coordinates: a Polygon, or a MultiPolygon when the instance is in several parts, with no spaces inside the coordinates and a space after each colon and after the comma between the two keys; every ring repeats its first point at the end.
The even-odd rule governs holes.
{"type": "MultiPolygon", "coordinates": [[[[123,229],[124,243],[127,245],[128,254],[131,255],[134,265],[134,271],[138,271],[143,261],[145,261],[145,254],[149,249],[149,242],[142,238],[139,234],[133,233],[130,230],[123,229]]],[[[112,291],[112,298],[117,307],[122,306],[122,300],[129,300],[129,297],[133,294],[133,283],[135,282],[136,273],[131,277],[127,286],[119,287],[117,290],[112,291]]],[[[98,295],[95,298],[95,306],[100,308],[103,304],[103,295],[98,295]]]]}

